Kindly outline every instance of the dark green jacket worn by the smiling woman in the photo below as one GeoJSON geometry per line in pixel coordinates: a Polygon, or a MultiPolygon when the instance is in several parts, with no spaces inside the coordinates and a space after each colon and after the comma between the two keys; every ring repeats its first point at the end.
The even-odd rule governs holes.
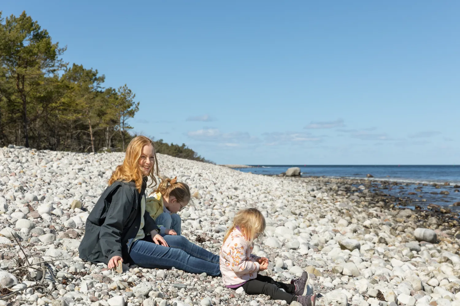
{"type": "Polygon", "coordinates": [[[115,182],[107,187],[86,219],[85,236],[78,248],[80,258],[91,262],[108,263],[113,256],[129,261],[129,250],[144,218],[144,233],[158,229],[145,211],[141,216],[141,200],[145,196],[144,179],[139,194],[132,182],[115,182]]]}

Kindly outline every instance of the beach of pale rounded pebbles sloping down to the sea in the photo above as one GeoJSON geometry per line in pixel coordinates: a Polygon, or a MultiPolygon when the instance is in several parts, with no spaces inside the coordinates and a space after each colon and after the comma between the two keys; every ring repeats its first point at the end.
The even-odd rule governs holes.
{"type": "MultiPolygon", "coordinates": [[[[86,218],[123,158],[0,148],[0,306],[286,305],[219,277],[82,261],[86,218]]],[[[460,306],[458,214],[399,208],[368,180],[158,159],[161,175],[193,194],[179,212],[185,237],[218,254],[236,211],[258,208],[267,228],[253,253],[269,258],[263,273],[288,283],[308,271],[316,305],[460,306]]]]}

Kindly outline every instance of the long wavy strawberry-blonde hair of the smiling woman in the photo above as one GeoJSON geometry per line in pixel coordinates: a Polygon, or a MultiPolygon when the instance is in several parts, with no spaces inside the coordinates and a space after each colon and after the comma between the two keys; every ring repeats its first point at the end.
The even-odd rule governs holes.
{"type": "Polygon", "coordinates": [[[142,149],[145,145],[153,146],[153,156],[155,157],[155,163],[147,177],[152,179],[152,183],[149,185],[149,187],[156,186],[156,178],[154,174],[156,171],[156,175],[160,177],[160,172],[158,170],[158,160],[156,158],[155,144],[151,139],[145,136],[136,136],[129,142],[129,145],[126,148],[125,160],[123,161],[123,164],[118,165],[115,168],[115,171],[112,172],[112,176],[109,179],[109,185],[116,181],[134,181],[136,183],[136,189],[138,189],[139,193],[141,192],[144,177],[142,176],[142,171],[139,167],[139,159],[142,156],[142,149]]]}

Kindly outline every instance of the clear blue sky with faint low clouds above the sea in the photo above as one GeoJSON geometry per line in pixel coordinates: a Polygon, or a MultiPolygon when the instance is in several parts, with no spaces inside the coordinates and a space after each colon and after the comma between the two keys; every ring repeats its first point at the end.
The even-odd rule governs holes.
{"type": "Polygon", "coordinates": [[[458,164],[458,1],[8,1],[217,163],[458,164]]]}

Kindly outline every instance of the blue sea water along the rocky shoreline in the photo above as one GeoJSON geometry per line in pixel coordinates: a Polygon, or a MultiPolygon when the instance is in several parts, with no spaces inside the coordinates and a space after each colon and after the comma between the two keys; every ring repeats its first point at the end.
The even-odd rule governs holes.
{"type": "MultiPolygon", "coordinates": [[[[242,172],[255,174],[276,175],[285,172],[289,167],[299,167],[301,175],[325,176],[333,178],[366,178],[372,174],[373,180],[388,180],[405,183],[384,191],[386,194],[398,197],[408,197],[414,205],[426,206],[430,203],[451,206],[460,201],[460,166],[306,166],[306,165],[253,165],[253,168],[236,168],[242,172]],[[449,186],[444,186],[449,182],[449,186]],[[423,186],[424,183],[428,184],[423,186]],[[435,188],[432,184],[440,184],[435,188]],[[400,188],[403,186],[402,188],[400,188]],[[416,190],[417,189],[417,190],[416,190]],[[421,189],[421,191],[420,191],[421,189]],[[440,194],[440,191],[448,191],[448,195],[440,194]],[[415,195],[413,194],[415,193],[415,195]]],[[[408,206],[409,207],[409,206],[408,206]]],[[[410,207],[413,208],[413,207],[410,207]]],[[[460,206],[450,207],[453,211],[460,211],[460,206]]]]}

